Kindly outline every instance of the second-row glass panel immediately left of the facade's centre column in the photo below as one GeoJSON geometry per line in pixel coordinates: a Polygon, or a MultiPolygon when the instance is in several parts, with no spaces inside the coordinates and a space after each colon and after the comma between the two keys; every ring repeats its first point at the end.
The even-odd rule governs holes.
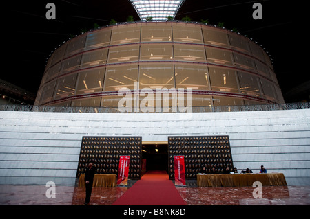
{"type": "Polygon", "coordinates": [[[134,62],[139,57],[139,46],[110,47],[108,63],[134,62]]]}

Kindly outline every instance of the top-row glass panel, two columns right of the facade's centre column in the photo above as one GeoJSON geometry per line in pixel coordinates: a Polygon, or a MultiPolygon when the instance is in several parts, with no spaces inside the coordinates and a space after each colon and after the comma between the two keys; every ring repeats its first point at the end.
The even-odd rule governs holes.
{"type": "Polygon", "coordinates": [[[229,41],[226,31],[214,30],[215,28],[203,27],[203,39],[207,45],[216,45],[219,47],[229,47],[229,41]]]}

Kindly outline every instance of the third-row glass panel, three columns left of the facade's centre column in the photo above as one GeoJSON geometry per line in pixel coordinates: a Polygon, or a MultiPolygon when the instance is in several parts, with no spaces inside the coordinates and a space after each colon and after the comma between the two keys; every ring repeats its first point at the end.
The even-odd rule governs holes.
{"type": "Polygon", "coordinates": [[[57,81],[55,99],[74,95],[75,84],[76,84],[76,74],[59,78],[59,80],[57,81]]]}

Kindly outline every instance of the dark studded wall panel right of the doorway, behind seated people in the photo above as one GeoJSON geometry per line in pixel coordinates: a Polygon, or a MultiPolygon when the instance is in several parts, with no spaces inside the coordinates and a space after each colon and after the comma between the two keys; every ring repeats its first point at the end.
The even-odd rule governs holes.
{"type": "Polygon", "coordinates": [[[196,174],[224,173],[227,165],[232,172],[234,165],[228,136],[168,137],[169,179],[174,179],[174,156],[184,155],[185,177],[196,178],[196,174]]]}

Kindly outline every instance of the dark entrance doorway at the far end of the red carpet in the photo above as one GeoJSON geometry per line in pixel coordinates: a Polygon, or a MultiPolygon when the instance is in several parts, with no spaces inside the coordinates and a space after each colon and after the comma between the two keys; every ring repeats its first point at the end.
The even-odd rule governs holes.
{"type": "Polygon", "coordinates": [[[142,159],[146,159],[147,170],[165,170],[168,172],[168,145],[142,145],[142,159]]]}

